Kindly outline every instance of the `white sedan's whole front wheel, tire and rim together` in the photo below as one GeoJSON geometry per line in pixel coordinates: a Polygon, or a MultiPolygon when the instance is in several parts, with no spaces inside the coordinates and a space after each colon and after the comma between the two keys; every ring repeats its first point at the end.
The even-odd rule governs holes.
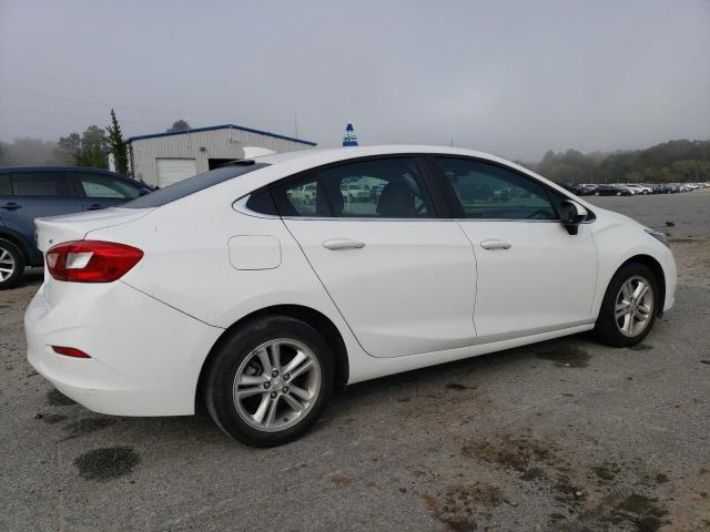
{"type": "Polygon", "coordinates": [[[597,338],[615,347],[630,347],[649,334],[659,304],[658,280],[641,263],[628,263],[607,288],[595,327],[597,338]]]}

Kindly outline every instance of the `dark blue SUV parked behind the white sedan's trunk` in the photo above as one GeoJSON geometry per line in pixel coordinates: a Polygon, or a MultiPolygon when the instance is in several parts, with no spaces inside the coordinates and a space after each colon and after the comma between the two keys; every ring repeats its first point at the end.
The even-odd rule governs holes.
{"type": "Polygon", "coordinates": [[[151,192],[144,183],[105,170],[0,167],[0,290],[12,286],[24,266],[41,266],[34,218],[95,211],[151,192]]]}

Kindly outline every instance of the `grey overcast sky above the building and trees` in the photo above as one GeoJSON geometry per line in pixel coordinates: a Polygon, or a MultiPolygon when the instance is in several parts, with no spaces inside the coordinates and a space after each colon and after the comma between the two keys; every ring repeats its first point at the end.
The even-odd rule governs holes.
{"type": "Polygon", "coordinates": [[[0,0],[0,140],[111,106],[523,160],[710,139],[710,1],[0,0]]]}

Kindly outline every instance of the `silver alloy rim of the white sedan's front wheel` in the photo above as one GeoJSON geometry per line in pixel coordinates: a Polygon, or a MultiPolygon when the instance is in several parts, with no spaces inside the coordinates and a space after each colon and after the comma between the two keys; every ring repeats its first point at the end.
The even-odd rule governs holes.
{"type": "Polygon", "coordinates": [[[653,313],[653,289],[646,277],[635,275],[627,279],[617,294],[615,320],[623,336],[643,332],[653,313]]]}

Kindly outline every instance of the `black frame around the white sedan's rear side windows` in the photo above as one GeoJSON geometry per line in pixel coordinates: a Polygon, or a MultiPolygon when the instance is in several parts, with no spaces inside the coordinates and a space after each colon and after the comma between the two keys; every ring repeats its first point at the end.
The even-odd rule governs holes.
{"type": "MultiPolygon", "coordinates": [[[[419,153],[419,152],[402,152],[402,153],[387,153],[387,154],[379,154],[379,155],[364,155],[359,157],[352,157],[352,158],[345,158],[341,161],[334,161],[332,163],[325,163],[308,170],[304,170],[296,174],[282,177],[273,183],[262,186],[261,188],[252,191],[246,196],[243,196],[242,198],[237,200],[234,205],[235,205],[235,208],[239,206],[239,208],[236,209],[239,212],[242,212],[243,214],[248,214],[248,215],[258,216],[258,217],[278,217],[282,219],[293,219],[293,221],[432,222],[435,219],[439,219],[439,221],[453,219],[452,212],[448,208],[448,205],[446,204],[444,200],[444,195],[439,188],[439,183],[436,180],[436,176],[434,175],[434,173],[432,172],[432,168],[429,167],[429,165],[426,164],[426,161],[425,161],[426,155],[427,155],[426,153],[419,153]],[[387,217],[385,216],[292,216],[292,215],[283,215],[281,214],[281,212],[278,212],[278,216],[273,216],[268,214],[254,213],[253,211],[250,211],[246,207],[246,202],[248,202],[248,196],[258,194],[263,192],[265,188],[267,188],[272,195],[272,201],[274,202],[276,209],[278,211],[278,202],[276,201],[276,197],[274,194],[274,190],[277,187],[287,185],[292,181],[298,181],[308,175],[314,175],[315,178],[317,180],[318,173],[325,170],[331,170],[338,166],[346,166],[351,164],[357,164],[362,162],[382,161],[387,158],[410,158],[414,161],[417,170],[419,171],[422,180],[424,181],[424,186],[426,188],[425,192],[429,195],[429,198],[432,201],[434,216],[416,217],[416,218],[389,217],[389,216],[387,217]]],[[[333,205],[331,204],[331,198],[327,197],[326,200],[327,200],[328,211],[331,212],[331,214],[333,214],[333,205]]]]}

